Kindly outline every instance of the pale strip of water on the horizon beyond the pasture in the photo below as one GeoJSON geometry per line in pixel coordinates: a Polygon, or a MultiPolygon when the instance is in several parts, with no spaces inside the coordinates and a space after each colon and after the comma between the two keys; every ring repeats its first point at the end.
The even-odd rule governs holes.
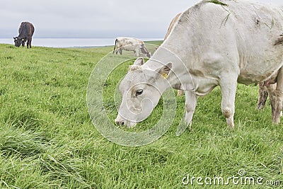
{"type": "MultiPolygon", "coordinates": [[[[163,40],[161,38],[141,38],[144,41],[163,40]]],[[[14,44],[13,38],[0,38],[0,44],[14,44]]],[[[115,38],[33,38],[32,46],[37,47],[103,47],[114,45],[115,38]]]]}

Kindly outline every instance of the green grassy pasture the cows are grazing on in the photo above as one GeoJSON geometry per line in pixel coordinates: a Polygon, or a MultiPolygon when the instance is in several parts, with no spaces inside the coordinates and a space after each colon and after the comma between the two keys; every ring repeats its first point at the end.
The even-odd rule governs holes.
{"type": "MultiPolygon", "coordinates": [[[[198,99],[192,131],[180,137],[175,131],[184,96],[177,98],[173,125],[156,142],[123,147],[101,136],[88,115],[86,88],[91,71],[111,50],[0,45],[0,188],[239,188],[241,182],[213,183],[238,171],[255,178],[254,188],[275,187],[263,181],[283,185],[283,126],[271,124],[269,103],[255,110],[257,86],[238,85],[233,131],[221,115],[217,87],[198,99]],[[195,177],[193,185],[185,184],[187,175],[195,177]],[[256,184],[259,177],[262,185],[256,184]]],[[[117,68],[103,91],[112,120],[112,93],[129,64],[117,68]]],[[[129,131],[151,127],[161,112],[162,101],[129,131]]]]}

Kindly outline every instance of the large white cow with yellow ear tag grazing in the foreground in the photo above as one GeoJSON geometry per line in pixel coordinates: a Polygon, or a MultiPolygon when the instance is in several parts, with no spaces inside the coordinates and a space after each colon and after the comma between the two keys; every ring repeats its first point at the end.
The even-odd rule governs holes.
{"type": "MultiPolygon", "coordinates": [[[[283,13],[256,1],[200,1],[187,9],[153,57],[134,65],[121,81],[122,103],[115,122],[133,126],[147,118],[167,88],[185,91],[185,126],[197,96],[221,87],[221,110],[229,127],[237,83],[258,84],[277,77],[275,111],[283,101],[283,13]],[[175,56],[174,56],[175,55],[175,56]]],[[[136,64],[143,59],[136,60],[136,64]]]]}

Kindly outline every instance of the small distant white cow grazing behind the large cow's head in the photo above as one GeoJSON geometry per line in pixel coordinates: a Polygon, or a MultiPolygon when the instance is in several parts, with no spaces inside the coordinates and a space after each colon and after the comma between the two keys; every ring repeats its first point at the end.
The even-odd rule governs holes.
{"type": "Polygon", "coordinates": [[[115,46],[113,50],[113,54],[116,49],[116,55],[118,52],[120,52],[120,55],[122,55],[122,50],[127,51],[134,51],[134,55],[137,57],[140,57],[141,54],[146,55],[146,57],[151,57],[150,52],[146,50],[146,45],[144,45],[144,42],[142,40],[139,40],[137,38],[124,38],[124,37],[118,37],[115,40],[115,46]]]}

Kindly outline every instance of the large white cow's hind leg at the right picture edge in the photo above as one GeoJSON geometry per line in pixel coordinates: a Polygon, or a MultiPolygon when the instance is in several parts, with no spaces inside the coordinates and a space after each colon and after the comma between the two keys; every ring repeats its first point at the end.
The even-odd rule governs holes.
{"type": "Polygon", "coordinates": [[[275,113],[272,115],[272,122],[280,123],[280,113],[283,103],[283,69],[280,68],[277,75],[277,86],[275,90],[275,113]]]}

